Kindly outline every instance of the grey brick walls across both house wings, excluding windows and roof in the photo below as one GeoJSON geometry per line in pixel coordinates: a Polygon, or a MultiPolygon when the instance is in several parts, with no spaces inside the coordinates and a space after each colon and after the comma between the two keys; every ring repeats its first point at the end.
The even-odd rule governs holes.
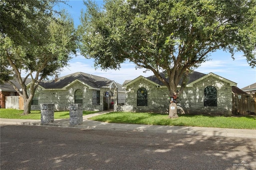
{"type": "MultiPolygon", "coordinates": [[[[100,89],[100,105],[94,105],[92,97],[96,96],[95,89],[89,89],[82,83],[74,83],[66,90],[42,90],[37,89],[39,93],[38,106],[32,105],[32,110],[40,110],[40,103],[54,103],[56,111],[68,111],[69,105],[74,103],[74,94],[77,89],[83,92],[83,110],[84,111],[102,111],[103,96],[109,88],[100,89]]],[[[111,89],[114,93],[114,111],[129,112],[155,112],[168,113],[169,111],[169,91],[166,87],[156,87],[147,80],[140,79],[132,85],[126,87],[126,105],[118,106],[117,89],[111,89]],[[137,91],[139,88],[145,88],[148,92],[148,106],[137,106],[137,91]]],[[[191,114],[232,114],[232,87],[230,84],[209,76],[202,81],[194,84],[193,87],[186,87],[178,99],[178,105],[184,109],[185,113],[191,114]],[[217,107],[204,107],[204,88],[213,86],[217,89],[217,107]]],[[[178,108],[180,108],[178,107],[178,108]]],[[[180,110],[178,109],[178,112],[180,110]]]]}

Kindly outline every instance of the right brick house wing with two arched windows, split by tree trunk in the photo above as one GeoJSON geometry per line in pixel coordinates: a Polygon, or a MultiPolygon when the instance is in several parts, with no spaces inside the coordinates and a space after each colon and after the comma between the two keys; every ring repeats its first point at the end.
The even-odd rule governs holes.
{"type": "MultiPolygon", "coordinates": [[[[179,96],[178,112],[232,114],[232,87],[236,85],[236,83],[214,73],[206,75],[193,72],[190,74],[186,88],[179,96]],[[214,99],[207,97],[208,93],[214,93],[214,99]]],[[[118,107],[119,111],[168,113],[169,91],[156,77],[139,76],[124,84],[123,87],[126,89],[126,107],[118,107]],[[141,88],[147,93],[147,104],[143,106],[138,104],[137,97],[138,90],[141,88]]],[[[177,90],[179,90],[179,86],[177,90]]]]}

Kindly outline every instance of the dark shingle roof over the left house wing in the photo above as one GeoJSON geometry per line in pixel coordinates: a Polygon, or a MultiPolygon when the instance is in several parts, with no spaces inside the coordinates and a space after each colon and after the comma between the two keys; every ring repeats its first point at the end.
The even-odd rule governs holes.
{"type": "Polygon", "coordinates": [[[109,86],[113,81],[104,77],[100,77],[97,75],[91,75],[87,73],[82,72],[76,72],[70,75],[66,75],[63,77],[60,77],[56,80],[51,81],[44,81],[41,82],[40,85],[44,87],[45,89],[62,89],[69,83],[75,81],[75,80],[82,81],[83,83],[89,85],[93,88],[100,88],[102,86],[109,86]]]}

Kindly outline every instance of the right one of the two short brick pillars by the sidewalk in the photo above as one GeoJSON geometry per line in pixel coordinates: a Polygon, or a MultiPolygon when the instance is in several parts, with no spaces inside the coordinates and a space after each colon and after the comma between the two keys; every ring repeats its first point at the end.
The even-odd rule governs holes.
{"type": "Polygon", "coordinates": [[[82,104],[70,104],[69,117],[69,125],[81,125],[83,123],[82,104]]]}

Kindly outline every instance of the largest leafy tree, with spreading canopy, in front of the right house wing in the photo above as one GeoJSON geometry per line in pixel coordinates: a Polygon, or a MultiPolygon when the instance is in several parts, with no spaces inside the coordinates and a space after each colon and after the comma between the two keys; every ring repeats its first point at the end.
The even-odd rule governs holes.
{"type": "MultiPolygon", "coordinates": [[[[102,69],[119,69],[128,60],[151,70],[170,96],[182,93],[188,73],[217,49],[232,57],[242,51],[250,66],[256,65],[255,0],[110,0],[104,8],[84,4],[82,54],[102,69]]],[[[169,117],[178,117],[177,111],[169,117]]]]}

